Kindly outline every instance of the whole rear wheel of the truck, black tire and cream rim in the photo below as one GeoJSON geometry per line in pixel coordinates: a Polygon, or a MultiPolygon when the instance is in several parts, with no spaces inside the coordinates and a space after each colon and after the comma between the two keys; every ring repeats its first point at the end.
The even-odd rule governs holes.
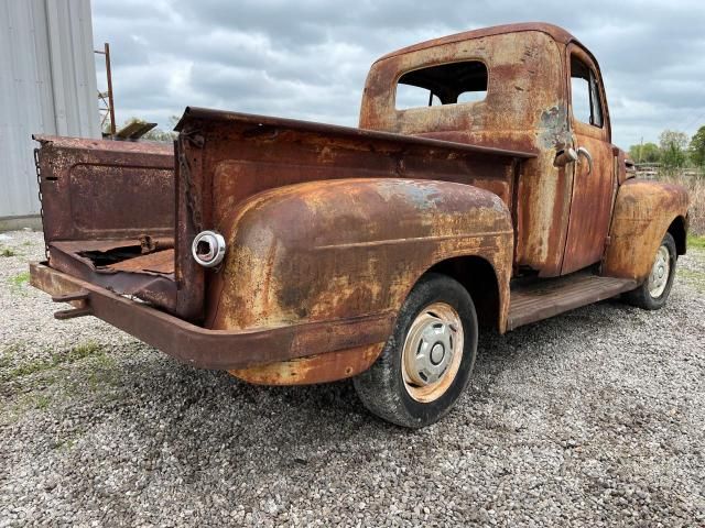
{"type": "Polygon", "coordinates": [[[365,406],[417,428],[442,418],[465,389],[477,354],[477,315],[467,290],[429,273],[404,301],[377,362],[354,378],[365,406]]]}

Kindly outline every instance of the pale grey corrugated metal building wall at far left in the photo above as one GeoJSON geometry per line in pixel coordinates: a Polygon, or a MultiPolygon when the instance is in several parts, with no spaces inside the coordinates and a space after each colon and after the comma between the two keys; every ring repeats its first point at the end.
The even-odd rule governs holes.
{"type": "Polygon", "coordinates": [[[32,134],[99,119],[90,0],[0,0],[0,219],[39,213],[32,134]]]}

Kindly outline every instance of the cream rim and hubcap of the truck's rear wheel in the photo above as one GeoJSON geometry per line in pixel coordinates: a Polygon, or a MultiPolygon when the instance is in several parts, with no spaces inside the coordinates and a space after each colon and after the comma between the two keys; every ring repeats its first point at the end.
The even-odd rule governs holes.
{"type": "Polygon", "coordinates": [[[463,358],[463,323],[455,309],[434,302],[411,323],[402,353],[402,373],[409,395],[433,402],[446,392],[463,358]]]}

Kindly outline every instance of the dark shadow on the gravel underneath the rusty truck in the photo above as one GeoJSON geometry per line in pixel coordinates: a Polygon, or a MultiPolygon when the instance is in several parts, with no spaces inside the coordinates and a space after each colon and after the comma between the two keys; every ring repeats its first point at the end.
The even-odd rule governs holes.
{"type": "MultiPolygon", "coordinates": [[[[601,302],[507,336],[484,334],[470,395],[460,405],[485,399],[497,376],[522,371],[544,353],[560,353],[555,343],[587,343],[597,328],[612,324],[625,309],[629,308],[615,301],[601,302]]],[[[410,431],[375,418],[358,400],[350,381],[256,386],[225,372],[191,369],[158,354],[153,352],[153,360],[147,361],[141,354],[140,361],[118,367],[126,397],[118,398],[121,403],[117,405],[121,417],[140,429],[143,440],[169,441],[173,454],[184,460],[198,453],[203,457],[203,450],[214,447],[242,461],[257,451],[268,454],[258,457],[257,466],[267,471],[282,465],[325,464],[327,457],[343,451],[357,450],[365,458],[373,446],[383,447],[386,440],[429,432],[410,431]]],[[[451,427],[455,416],[451,413],[434,428],[451,427]]]]}

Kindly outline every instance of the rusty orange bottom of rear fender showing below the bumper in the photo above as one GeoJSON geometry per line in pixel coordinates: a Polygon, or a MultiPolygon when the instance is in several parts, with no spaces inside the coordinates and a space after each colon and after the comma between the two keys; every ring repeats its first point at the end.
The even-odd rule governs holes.
{"type": "Polygon", "coordinates": [[[335,382],[367,371],[383,348],[383,343],[378,343],[229,372],[240,380],[258,385],[308,385],[335,382]]]}

